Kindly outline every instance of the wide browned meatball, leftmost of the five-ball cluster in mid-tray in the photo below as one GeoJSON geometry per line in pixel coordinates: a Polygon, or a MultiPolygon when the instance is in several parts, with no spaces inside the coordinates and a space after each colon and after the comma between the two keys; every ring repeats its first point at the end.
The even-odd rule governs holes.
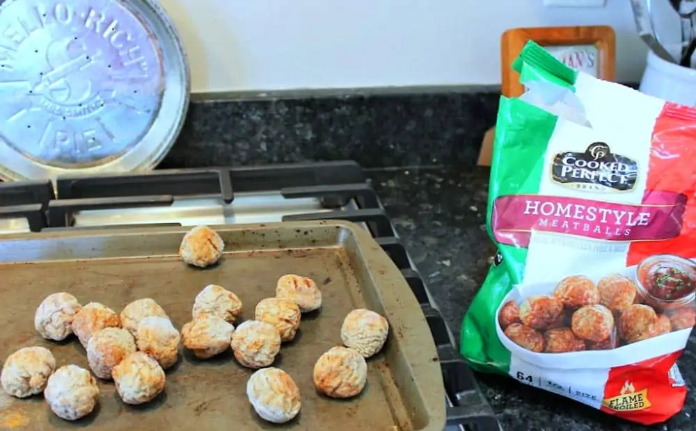
{"type": "Polygon", "coordinates": [[[216,316],[202,316],[181,328],[184,346],[199,359],[208,359],[230,348],[232,323],[216,316]]]}

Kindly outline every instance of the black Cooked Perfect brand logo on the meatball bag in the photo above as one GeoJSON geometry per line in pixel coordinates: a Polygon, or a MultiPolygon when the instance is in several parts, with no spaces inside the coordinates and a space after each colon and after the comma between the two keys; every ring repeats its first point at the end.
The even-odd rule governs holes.
{"type": "Polygon", "coordinates": [[[596,142],[585,152],[562,152],[553,158],[553,181],[562,186],[598,193],[625,192],[633,189],[638,163],[613,154],[609,145],[596,142]]]}

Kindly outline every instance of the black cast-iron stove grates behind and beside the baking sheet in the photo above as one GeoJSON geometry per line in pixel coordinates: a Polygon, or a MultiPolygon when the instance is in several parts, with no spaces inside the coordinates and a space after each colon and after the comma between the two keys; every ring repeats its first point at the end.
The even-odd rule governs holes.
{"type": "MultiPolygon", "coordinates": [[[[448,425],[480,431],[500,429],[473,373],[459,355],[445,320],[433,307],[427,288],[377,194],[357,163],[293,163],[262,167],[156,170],[145,174],[64,177],[50,181],[0,184],[0,218],[26,218],[31,231],[75,229],[74,213],[94,209],[168,206],[177,197],[214,195],[224,202],[235,193],[280,191],[287,199],[315,197],[333,211],[285,216],[283,220],[363,222],[411,286],[438,348],[448,394],[448,425]],[[357,209],[341,209],[347,202],[357,209]]],[[[80,228],[85,229],[85,228],[80,228]]]]}

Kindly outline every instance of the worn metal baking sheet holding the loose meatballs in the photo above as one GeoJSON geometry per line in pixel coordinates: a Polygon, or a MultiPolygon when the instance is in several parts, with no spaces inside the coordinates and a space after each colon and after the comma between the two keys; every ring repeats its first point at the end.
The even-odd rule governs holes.
{"type": "MultiPolygon", "coordinates": [[[[283,222],[214,227],[226,243],[219,263],[205,270],[177,257],[181,227],[56,231],[0,239],[0,359],[29,345],[54,352],[58,366],[88,367],[71,337],[55,343],[33,328],[33,314],[45,296],[58,291],[85,304],[98,301],[120,312],[128,302],[154,298],[176,327],[191,318],[196,293],[220,284],[239,295],[243,318],[276,280],[299,273],[317,281],[324,297],[317,314],[303,316],[296,340],[283,345],[274,366],[290,373],[302,396],[299,416],[281,428],[319,430],[442,430],[445,390],[438,352],[425,316],[400,271],[367,231],[349,222],[283,222]],[[319,355],[340,344],[340,325],[351,309],[365,307],[386,316],[385,348],[368,359],[365,390],[351,400],[320,396],[312,381],[319,355]]],[[[125,405],[112,382],[100,382],[99,407],[74,423],[52,414],[41,396],[17,400],[0,391],[0,430],[81,428],[242,430],[278,428],[264,423],[246,400],[252,370],[231,351],[200,361],[182,350],[167,373],[164,393],[141,406],[125,405]],[[3,423],[3,418],[5,423],[3,423]],[[12,422],[8,421],[11,418],[12,422]]]]}

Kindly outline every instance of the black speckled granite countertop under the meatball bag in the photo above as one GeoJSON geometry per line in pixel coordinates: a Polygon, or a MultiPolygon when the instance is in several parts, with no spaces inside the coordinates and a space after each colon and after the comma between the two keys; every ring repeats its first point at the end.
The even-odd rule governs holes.
{"type": "MultiPolygon", "coordinates": [[[[413,168],[368,174],[458,342],[461,319],[496,250],[485,231],[489,169],[413,168]]],[[[691,387],[696,382],[693,338],[679,367],[691,387]]],[[[480,373],[477,378],[505,431],[696,430],[691,391],[679,414],[646,428],[512,378],[480,373]]]]}

